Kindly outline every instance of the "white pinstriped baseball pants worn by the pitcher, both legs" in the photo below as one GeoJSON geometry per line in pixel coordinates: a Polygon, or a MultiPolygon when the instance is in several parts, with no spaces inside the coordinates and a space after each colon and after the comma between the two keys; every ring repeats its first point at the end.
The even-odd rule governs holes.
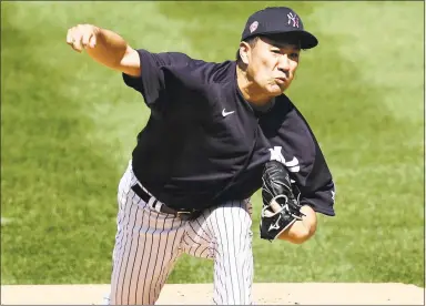
{"type": "Polygon", "coordinates": [[[134,184],[130,162],[119,185],[110,304],[155,304],[183,253],[214,259],[213,303],[253,304],[250,202],[227,202],[183,221],[150,207],[131,190],[134,184]]]}

